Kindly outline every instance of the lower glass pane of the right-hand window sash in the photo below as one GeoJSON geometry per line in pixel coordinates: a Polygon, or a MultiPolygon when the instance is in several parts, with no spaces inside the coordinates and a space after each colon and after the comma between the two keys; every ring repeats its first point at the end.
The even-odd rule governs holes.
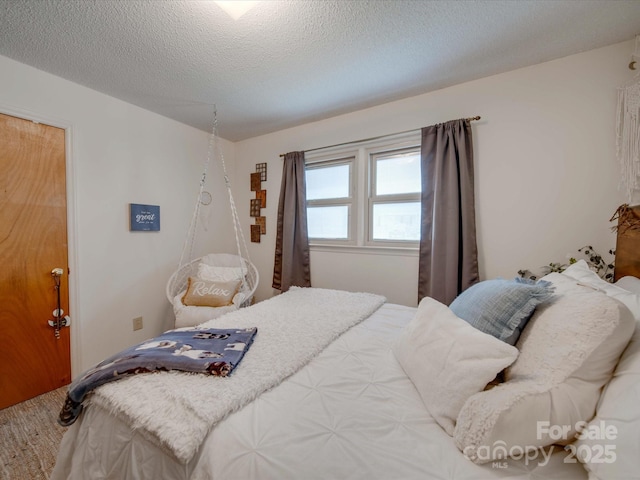
{"type": "Polygon", "coordinates": [[[420,240],[420,202],[373,205],[373,240],[420,240]]]}

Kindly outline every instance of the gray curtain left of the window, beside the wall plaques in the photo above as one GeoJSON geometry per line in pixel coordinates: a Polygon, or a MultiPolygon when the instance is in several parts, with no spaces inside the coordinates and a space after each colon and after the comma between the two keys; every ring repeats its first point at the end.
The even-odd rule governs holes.
{"type": "Polygon", "coordinates": [[[304,152],[285,154],[278,203],[272,286],[286,292],[292,285],[311,286],[304,152]]]}

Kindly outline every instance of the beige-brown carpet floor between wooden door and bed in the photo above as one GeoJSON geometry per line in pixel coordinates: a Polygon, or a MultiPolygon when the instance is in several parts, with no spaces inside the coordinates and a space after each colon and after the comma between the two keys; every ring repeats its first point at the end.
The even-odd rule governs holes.
{"type": "Polygon", "coordinates": [[[56,423],[67,387],[0,410],[0,478],[47,480],[65,428],[56,423]]]}

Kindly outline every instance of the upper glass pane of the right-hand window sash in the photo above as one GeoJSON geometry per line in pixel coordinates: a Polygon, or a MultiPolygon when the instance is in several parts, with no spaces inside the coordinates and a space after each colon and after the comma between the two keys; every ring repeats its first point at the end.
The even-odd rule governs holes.
{"type": "Polygon", "coordinates": [[[420,152],[376,158],[376,195],[419,193],[420,152]]]}

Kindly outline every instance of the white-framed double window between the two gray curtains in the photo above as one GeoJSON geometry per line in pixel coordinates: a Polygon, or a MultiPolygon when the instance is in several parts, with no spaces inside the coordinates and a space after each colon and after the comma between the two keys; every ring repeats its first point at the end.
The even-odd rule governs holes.
{"type": "Polygon", "coordinates": [[[307,154],[312,246],[417,248],[420,142],[404,137],[307,154]]]}

